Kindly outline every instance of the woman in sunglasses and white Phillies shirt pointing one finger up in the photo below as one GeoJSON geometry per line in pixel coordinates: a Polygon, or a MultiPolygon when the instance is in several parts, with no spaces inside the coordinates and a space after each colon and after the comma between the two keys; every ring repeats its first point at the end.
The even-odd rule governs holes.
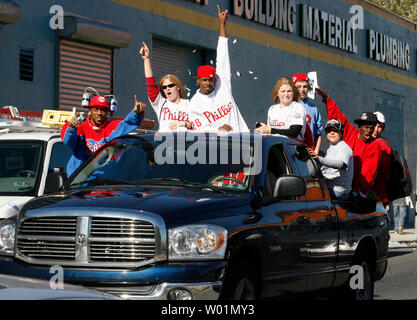
{"type": "MultiPolygon", "coordinates": [[[[167,74],[155,81],[149,48],[142,42],[139,53],[143,59],[148,97],[159,122],[159,132],[179,131],[184,127],[191,129],[188,119],[189,100],[184,99],[184,88],[181,81],[173,74],[167,74]]],[[[182,130],[181,130],[182,131],[182,130]]]]}

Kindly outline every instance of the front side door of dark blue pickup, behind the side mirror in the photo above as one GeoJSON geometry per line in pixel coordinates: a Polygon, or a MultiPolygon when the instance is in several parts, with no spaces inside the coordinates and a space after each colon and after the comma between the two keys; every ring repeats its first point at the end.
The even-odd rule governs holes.
{"type": "Polygon", "coordinates": [[[273,197],[276,180],[293,173],[282,144],[268,152],[262,214],[268,221],[269,258],[264,279],[265,296],[304,292],[307,286],[308,224],[303,220],[304,201],[273,197]]]}

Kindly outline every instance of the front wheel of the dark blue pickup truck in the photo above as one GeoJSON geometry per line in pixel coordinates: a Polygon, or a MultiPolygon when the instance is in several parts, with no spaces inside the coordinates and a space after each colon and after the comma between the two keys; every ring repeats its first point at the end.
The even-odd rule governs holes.
{"type": "Polygon", "coordinates": [[[230,268],[223,290],[221,300],[256,300],[259,297],[259,284],[254,269],[245,262],[236,262],[230,268]]]}

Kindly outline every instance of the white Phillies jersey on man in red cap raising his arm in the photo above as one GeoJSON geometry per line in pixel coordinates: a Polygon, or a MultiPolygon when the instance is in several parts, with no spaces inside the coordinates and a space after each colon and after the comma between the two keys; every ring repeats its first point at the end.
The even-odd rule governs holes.
{"type": "Polygon", "coordinates": [[[224,124],[231,126],[232,132],[249,132],[232,95],[227,38],[219,37],[217,44],[214,90],[208,95],[197,90],[190,100],[190,117],[198,132],[217,132],[224,124]]]}

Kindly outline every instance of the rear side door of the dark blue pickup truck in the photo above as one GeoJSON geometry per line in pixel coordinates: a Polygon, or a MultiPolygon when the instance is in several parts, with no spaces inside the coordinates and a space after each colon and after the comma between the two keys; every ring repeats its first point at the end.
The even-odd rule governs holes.
{"type": "Polygon", "coordinates": [[[338,254],[338,218],[317,163],[304,147],[288,145],[298,172],[307,183],[303,197],[308,225],[308,291],[332,285],[338,254]]]}

